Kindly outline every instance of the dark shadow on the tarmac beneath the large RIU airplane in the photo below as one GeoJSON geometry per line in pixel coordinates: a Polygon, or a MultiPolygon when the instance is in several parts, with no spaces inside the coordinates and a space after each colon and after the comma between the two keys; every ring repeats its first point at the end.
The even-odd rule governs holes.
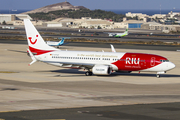
{"type": "MultiPolygon", "coordinates": [[[[41,72],[54,72],[54,73],[69,73],[69,74],[75,74],[76,76],[82,76],[85,74],[86,71],[79,71],[80,69],[60,69],[60,70],[52,70],[52,71],[41,71],[41,72]]],[[[61,75],[56,75],[56,77],[61,76],[61,75]]],[[[74,76],[74,75],[70,75],[70,76],[74,76]]],[[[96,75],[93,75],[96,76],[96,75]]],[[[97,75],[100,77],[116,77],[116,76],[137,76],[137,77],[156,77],[156,74],[154,73],[119,73],[119,72],[114,72],[111,75],[97,75]]],[[[176,74],[161,74],[161,77],[180,77],[180,75],[176,75],[176,74]]]]}

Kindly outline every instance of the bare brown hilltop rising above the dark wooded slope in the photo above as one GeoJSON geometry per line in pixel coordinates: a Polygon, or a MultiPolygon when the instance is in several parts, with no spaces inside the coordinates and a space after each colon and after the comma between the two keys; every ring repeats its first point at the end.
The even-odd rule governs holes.
{"type": "Polygon", "coordinates": [[[83,6],[73,6],[69,2],[62,2],[57,4],[48,5],[42,8],[38,8],[32,11],[25,12],[23,14],[32,14],[32,13],[48,13],[50,11],[57,11],[57,10],[79,10],[79,9],[87,9],[83,6]]]}

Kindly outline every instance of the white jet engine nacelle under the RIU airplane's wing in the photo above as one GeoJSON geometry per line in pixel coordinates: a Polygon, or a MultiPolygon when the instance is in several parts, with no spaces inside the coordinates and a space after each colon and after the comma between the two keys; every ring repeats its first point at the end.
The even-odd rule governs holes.
{"type": "Polygon", "coordinates": [[[92,68],[92,72],[95,75],[110,75],[112,69],[109,65],[95,65],[92,68]]]}

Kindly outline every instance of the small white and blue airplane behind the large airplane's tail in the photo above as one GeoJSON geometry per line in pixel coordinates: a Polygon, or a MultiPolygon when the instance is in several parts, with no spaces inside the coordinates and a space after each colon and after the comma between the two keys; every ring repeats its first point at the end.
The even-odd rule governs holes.
{"type": "Polygon", "coordinates": [[[60,40],[59,42],[47,41],[46,43],[47,43],[49,46],[56,46],[57,48],[59,48],[59,46],[68,44],[68,43],[64,43],[64,40],[65,40],[65,39],[70,39],[70,38],[62,37],[62,38],[60,38],[60,39],[61,39],[61,40],[60,40]]]}

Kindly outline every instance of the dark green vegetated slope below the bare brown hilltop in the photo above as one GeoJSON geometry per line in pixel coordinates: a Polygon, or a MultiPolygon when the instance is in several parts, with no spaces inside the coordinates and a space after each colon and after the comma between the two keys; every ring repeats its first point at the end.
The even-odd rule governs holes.
{"type": "Polygon", "coordinates": [[[73,18],[80,19],[81,17],[91,17],[93,19],[111,19],[115,22],[121,22],[125,15],[115,14],[110,11],[104,10],[89,10],[89,9],[79,9],[79,10],[58,10],[51,11],[48,13],[33,13],[29,14],[34,20],[46,20],[51,21],[57,18],[73,18]]]}

